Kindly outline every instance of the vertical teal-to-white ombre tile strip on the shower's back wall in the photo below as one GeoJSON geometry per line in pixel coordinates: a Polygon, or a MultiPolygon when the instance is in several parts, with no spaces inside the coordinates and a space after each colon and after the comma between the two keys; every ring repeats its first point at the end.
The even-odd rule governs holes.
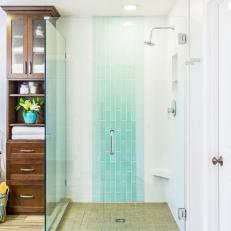
{"type": "Polygon", "coordinates": [[[144,200],[143,49],[143,17],[93,18],[94,202],[144,200]]]}

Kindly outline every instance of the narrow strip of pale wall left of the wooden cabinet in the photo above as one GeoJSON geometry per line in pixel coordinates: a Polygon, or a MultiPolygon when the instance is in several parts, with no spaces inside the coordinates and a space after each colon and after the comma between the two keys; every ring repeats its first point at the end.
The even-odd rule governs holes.
{"type": "Polygon", "coordinates": [[[3,149],[3,155],[1,157],[1,177],[4,178],[6,138],[6,14],[2,9],[0,9],[0,47],[0,150],[3,149]]]}

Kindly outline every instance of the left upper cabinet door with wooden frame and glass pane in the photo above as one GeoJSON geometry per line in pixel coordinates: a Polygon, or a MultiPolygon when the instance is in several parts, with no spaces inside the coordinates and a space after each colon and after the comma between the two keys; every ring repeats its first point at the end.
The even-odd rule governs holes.
{"type": "Polygon", "coordinates": [[[8,18],[8,78],[27,78],[27,16],[8,18]]]}

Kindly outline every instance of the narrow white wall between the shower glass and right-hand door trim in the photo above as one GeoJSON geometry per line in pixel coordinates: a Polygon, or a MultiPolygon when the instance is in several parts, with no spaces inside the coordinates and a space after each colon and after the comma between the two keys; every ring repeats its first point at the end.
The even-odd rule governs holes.
{"type": "MultiPolygon", "coordinates": [[[[205,121],[204,112],[206,110],[206,102],[204,101],[206,85],[204,85],[203,76],[203,0],[190,1],[190,57],[201,59],[200,63],[190,66],[190,105],[189,114],[189,193],[188,207],[189,221],[188,229],[190,231],[204,231],[204,203],[206,198],[204,195],[204,187],[206,182],[205,162],[208,161],[204,153],[205,145],[205,121]]],[[[209,163],[209,162],[208,162],[209,163]]],[[[208,192],[209,193],[209,192],[208,192]]],[[[211,201],[210,201],[211,203],[211,201]]],[[[214,218],[213,218],[214,219],[214,218]]]]}

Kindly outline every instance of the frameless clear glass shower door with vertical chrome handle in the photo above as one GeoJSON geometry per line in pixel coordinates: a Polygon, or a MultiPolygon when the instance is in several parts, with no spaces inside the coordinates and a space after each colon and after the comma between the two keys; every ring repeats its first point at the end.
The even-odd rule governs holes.
{"type": "Polygon", "coordinates": [[[187,0],[181,4],[163,17],[58,21],[67,40],[73,202],[63,230],[185,230],[187,0]]]}

